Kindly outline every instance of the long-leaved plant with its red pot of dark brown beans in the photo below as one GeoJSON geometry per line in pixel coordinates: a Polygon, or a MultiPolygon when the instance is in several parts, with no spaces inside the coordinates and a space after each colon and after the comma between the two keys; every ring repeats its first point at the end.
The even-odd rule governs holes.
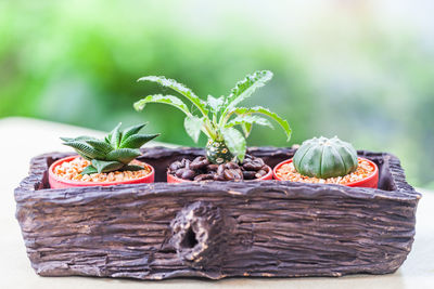
{"type": "Polygon", "coordinates": [[[162,94],[149,95],[136,102],[137,110],[142,110],[149,103],[173,105],[187,115],[184,128],[194,142],[197,142],[201,132],[208,137],[206,156],[173,162],[167,171],[167,182],[271,180],[270,167],[263,159],[245,154],[245,137],[251,133],[253,124],[272,128],[270,121],[260,115],[276,120],[286,133],[288,141],[291,137],[290,126],[286,120],[261,106],[238,106],[271,78],[271,71],[256,71],[238,82],[228,96],[208,95],[207,101],[201,100],[192,90],[173,79],[156,76],[140,78],[139,81],[157,82],[180,93],[195,106],[199,115],[194,115],[179,97],[162,94]],[[234,127],[241,127],[244,135],[234,127]]]}

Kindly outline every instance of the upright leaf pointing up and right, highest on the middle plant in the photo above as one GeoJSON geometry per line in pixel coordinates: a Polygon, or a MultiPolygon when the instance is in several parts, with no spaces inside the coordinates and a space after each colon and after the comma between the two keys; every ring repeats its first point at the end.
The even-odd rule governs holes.
{"type": "Polygon", "coordinates": [[[247,75],[243,80],[239,81],[231,90],[231,93],[226,100],[226,108],[229,110],[245,98],[250,97],[256,89],[264,87],[267,81],[272,78],[272,73],[269,70],[255,71],[247,75]]]}

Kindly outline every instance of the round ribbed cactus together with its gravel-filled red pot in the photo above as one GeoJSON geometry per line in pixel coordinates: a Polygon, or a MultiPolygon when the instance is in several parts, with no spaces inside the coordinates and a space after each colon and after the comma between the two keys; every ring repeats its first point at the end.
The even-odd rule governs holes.
{"type": "Polygon", "coordinates": [[[337,136],[305,141],[294,157],[273,169],[279,181],[341,184],[376,188],[379,169],[366,158],[357,157],[353,145],[337,136]]]}

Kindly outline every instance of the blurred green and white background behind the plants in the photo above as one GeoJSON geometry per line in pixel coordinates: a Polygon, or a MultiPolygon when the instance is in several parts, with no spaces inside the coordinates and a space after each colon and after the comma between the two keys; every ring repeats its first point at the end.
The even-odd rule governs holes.
{"type": "Polygon", "coordinates": [[[285,117],[293,137],[255,128],[250,145],[336,134],[392,152],[411,184],[434,188],[434,5],[416,2],[1,1],[0,118],[99,130],[144,120],[158,141],[194,145],[176,108],[132,109],[171,93],[136,80],[164,75],[206,97],[270,69],[246,104],[285,117]]]}

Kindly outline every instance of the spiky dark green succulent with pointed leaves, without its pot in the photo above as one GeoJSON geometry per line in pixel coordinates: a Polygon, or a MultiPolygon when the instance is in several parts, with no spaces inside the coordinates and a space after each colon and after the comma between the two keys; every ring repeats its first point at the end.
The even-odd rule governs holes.
{"type": "Polygon", "coordinates": [[[120,131],[120,126],[122,123],[117,124],[104,140],[92,136],[61,137],[64,145],[73,147],[82,158],[91,161],[81,174],[143,169],[141,166],[129,163],[141,155],[139,148],[159,133],[139,134],[146,123],[133,126],[124,131],[120,131]]]}

